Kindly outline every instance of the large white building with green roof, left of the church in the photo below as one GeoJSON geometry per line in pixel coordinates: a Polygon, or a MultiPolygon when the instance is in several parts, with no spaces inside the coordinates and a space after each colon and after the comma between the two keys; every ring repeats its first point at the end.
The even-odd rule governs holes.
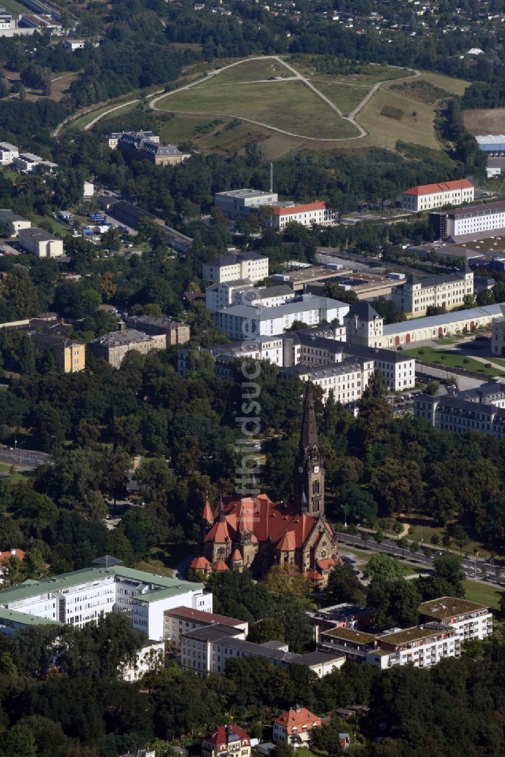
{"type": "Polygon", "coordinates": [[[165,610],[185,606],[212,612],[212,594],[204,584],[125,568],[110,557],[95,562],[100,564],[0,590],[0,633],[11,636],[33,618],[83,628],[109,612],[123,612],[136,631],[161,640],[165,610]]]}

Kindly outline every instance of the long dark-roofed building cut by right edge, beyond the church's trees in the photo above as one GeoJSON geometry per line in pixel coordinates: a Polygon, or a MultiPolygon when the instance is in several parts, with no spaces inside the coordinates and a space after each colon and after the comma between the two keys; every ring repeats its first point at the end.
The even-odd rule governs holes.
{"type": "Polygon", "coordinates": [[[505,385],[490,382],[438,397],[421,394],[414,400],[414,417],[429,420],[443,431],[481,431],[502,439],[505,435],[505,385]]]}

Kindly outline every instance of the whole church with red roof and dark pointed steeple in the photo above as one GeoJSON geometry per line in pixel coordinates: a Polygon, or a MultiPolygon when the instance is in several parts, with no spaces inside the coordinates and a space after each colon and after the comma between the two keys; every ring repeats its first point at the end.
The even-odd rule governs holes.
{"type": "Polygon", "coordinates": [[[222,497],[202,516],[198,556],[190,568],[213,571],[250,569],[263,575],[272,565],[294,565],[325,587],[338,561],[337,541],[325,518],[324,463],[317,441],[313,387],[308,382],[301,437],[293,474],[293,496],[273,503],[267,494],[222,497]]]}

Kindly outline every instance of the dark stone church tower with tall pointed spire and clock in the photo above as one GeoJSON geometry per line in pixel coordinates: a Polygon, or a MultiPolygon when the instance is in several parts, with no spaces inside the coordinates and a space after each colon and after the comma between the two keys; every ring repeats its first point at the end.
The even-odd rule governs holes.
{"type": "Polygon", "coordinates": [[[324,466],[317,446],[316,414],[312,382],[307,383],[300,447],[295,461],[294,500],[301,512],[324,518],[324,466]]]}

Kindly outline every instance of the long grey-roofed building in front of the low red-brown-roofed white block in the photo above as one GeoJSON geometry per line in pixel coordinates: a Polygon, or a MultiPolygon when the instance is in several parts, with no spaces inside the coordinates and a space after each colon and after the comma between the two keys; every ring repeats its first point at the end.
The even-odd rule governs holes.
{"type": "MultiPolygon", "coordinates": [[[[223,565],[226,567],[226,563],[223,562],[223,565]]],[[[192,670],[201,677],[206,677],[209,673],[224,675],[226,661],[239,657],[263,658],[280,667],[308,665],[319,678],[344,664],[341,654],[309,652],[298,655],[289,652],[288,645],[282,641],[256,644],[246,641],[241,629],[221,624],[182,634],[181,668],[192,670]]]]}

